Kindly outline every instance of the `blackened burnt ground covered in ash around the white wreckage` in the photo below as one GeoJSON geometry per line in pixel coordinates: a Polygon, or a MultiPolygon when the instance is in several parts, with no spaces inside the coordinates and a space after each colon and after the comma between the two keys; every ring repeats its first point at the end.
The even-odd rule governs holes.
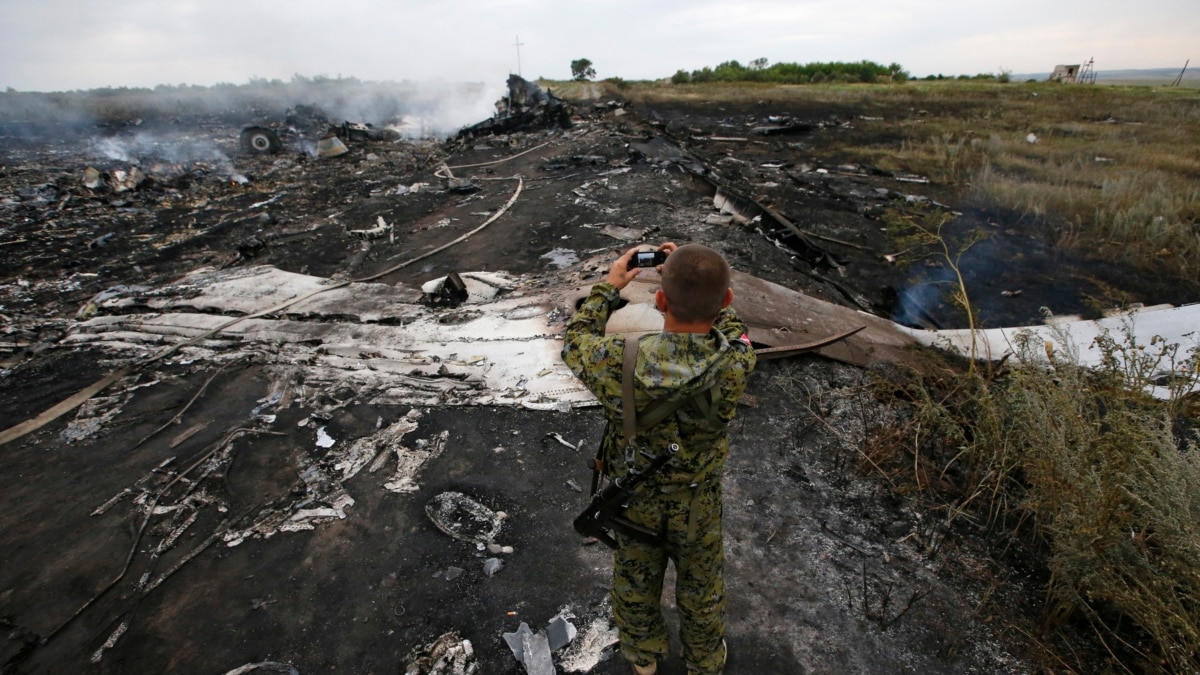
{"type": "MultiPolygon", "coordinates": [[[[64,341],[79,318],[106,311],[89,305],[97,293],[156,288],[202,267],[372,276],[497,214],[515,175],[524,178],[522,192],[496,222],[377,281],[413,288],[450,271],[504,270],[532,286],[552,283],[558,277],[547,270],[563,256],[631,245],[606,233],[619,226],[649,243],[706,243],[743,271],[838,304],[958,325],[943,294],[913,291],[937,281],[935,256],[917,251],[907,267],[883,258],[896,250],[884,214],[931,208],[959,214],[954,232],[991,231],[968,267],[989,325],[1030,322],[1042,306],[1087,315],[1096,311],[1090,298],[1115,293],[1145,304],[1195,299],[1182,282],[1057,251],[1044,223],[960,203],[948,186],[847,166],[839,148],[898,142],[887,123],[856,121],[868,114],[880,112],[580,102],[569,130],[352,141],[348,154],[329,159],[306,151],[322,131],[311,120],[293,120],[281,154],[241,153],[241,125],[263,119],[238,110],[102,129],[7,123],[0,429],[128,363],[64,341]],[[752,133],[769,115],[803,127],[752,133]],[[451,171],[470,185],[448,185],[445,172],[436,174],[443,163],[466,167],[451,171]],[[128,179],[134,166],[140,183],[128,179]],[[96,187],[85,185],[88,167],[100,173],[96,187]],[[126,183],[116,172],[127,172],[126,183]],[[718,191],[731,197],[734,216],[713,207],[718,191]],[[380,217],[392,226],[386,234],[349,232],[380,217]]],[[[578,268],[580,281],[593,275],[578,268]]],[[[874,395],[874,376],[802,356],[762,362],[752,380],[754,405],[736,422],[726,476],[727,671],[1039,670],[1046,657],[1027,637],[1037,631],[1036,572],[997,562],[976,537],[946,532],[936,515],[860,471],[869,432],[898,414],[874,395]]],[[[457,632],[470,640],[479,673],[520,673],[502,634],[521,621],[542,629],[560,614],[581,633],[568,650],[582,655],[559,653],[560,667],[624,671],[619,658],[588,662],[600,653],[583,643],[596,634],[588,627],[605,626],[610,557],[582,545],[570,526],[586,502],[575,488],[589,480],[584,460],[600,436],[599,413],[419,406],[407,446],[448,434],[421,467],[419,491],[386,491],[379,474],[360,473],[344,480],[354,500],[346,518],[229,545],[236,538],[228,533],[320,491],[304,478],[328,460],[318,423],[342,448],[413,412],[304,382],[272,401],[278,387],[253,350],[211,362],[176,354],[122,378],[98,408],[0,447],[6,671],[224,673],[259,662],[300,673],[396,671],[414,650],[457,632]],[[259,417],[264,408],[274,417],[259,417]],[[68,426],[97,419],[88,432],[68,426]],[[203,478],[185,471],[193,465],[208,471],[203,478]],[[506,513],[496,543],[512,551],[494,554],[432,526],[425,506],[448,490],[506,513]],[[168,503],[184,506],[140,531],[145,513],[168,503]],[[504,567],[487,575],[491,557],[504,567]]],[[[672,659],[660,671],[683,670],[672,659]]]]}

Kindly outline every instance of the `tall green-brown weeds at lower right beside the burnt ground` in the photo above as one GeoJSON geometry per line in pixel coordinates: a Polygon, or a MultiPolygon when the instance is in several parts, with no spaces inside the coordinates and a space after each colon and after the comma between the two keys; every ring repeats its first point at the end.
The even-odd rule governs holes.
{"type": "Polygon", "coordinates": [[[1196,673],[1200,353],[1135,344],[1130,328],[1096,341],[1098,370],[1025,334],[994,377],[914,378],[911,420],[869,459],[947,526],[1040,543],[1045,627],[1082,619],[1117,669],[1196,673]],[[1156,386],[1165,400],[1145,393],[1156,386]]]}

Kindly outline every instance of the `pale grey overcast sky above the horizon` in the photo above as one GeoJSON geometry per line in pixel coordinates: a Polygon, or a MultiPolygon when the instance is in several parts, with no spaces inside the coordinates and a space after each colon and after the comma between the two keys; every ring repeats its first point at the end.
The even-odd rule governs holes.
{"type": "MultiPolygon", "coordinates": [[[[0,89],[251,77],[650,79],[736,59],[899,62],[912,74],[1182,67],[1198,0],[0,0],[0,89]],[[520,64],[518,48],[520,36],[520,64]]],[[[1200,66],[1200,64],[1198,64],[1200,66]]]]}

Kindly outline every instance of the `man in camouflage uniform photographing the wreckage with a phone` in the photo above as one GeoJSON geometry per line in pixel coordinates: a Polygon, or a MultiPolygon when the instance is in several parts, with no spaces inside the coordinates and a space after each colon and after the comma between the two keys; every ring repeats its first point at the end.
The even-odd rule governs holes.
{"type": "Polygon", "coordinates": [[[721,540],[721,470],[730,452],[727,425],[755,366],[745,324],[730,303],[730,268],[719,253],[697,244],[659,246],[662,287],[655,294],[664,331],[641,342],[605,335],[620,289],[641,269],[629,269],[637,249],[613,263],[566,327],[563,360],[604,406],[608,425],[601,446],[604,472],[623,476],[649,460],[626,453],[622,432],[622,365],[626,344],[637,348],[634,405],[690,399],[661,423],[638,431],[636,444],[649,455],[678,444],[678,454],[634,495],[628,520],[661,536],[648,544],[617,532],[613,554],[613,619],[622,655],[634,673],[655,673],[667,655],[660,608],[667,561],[676,566],[679,638],[689,673],[716,674],[725,667],[725,552],[721,540]],[[700,396],[697,396],[700,394],[700,396]]]}

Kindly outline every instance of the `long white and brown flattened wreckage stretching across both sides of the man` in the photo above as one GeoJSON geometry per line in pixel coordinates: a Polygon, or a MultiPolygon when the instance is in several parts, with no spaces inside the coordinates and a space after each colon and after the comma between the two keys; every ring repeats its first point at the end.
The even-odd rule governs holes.
{"type": "MultiPolygon", "coordinates": [[[[600,269],[606,262],[598,258],[582,267],[600,269]]],[[[281,380],[301,371],[296,375],[310,386],[353,387],[372,404],[570,410],[594,404],[558,357],[565,322],[575,303],[587,295],[588,287],[574,282],[577,276],[575,270],[551,279],[479,271],[407,289],[370,281],[334,282],[269,265],[200,269],[161,288],[102,292],[80,309],[85,318],[64,345],[101,347],[131,365],[168,353],[215,363],[253,354],[281,380]],[[452,309],[431,306],[430,299],[444,293],[450,281],[462,286],[462,303],[452,309]],[[98,311],[103,313],[91,316],[98,311]]],[[[998,360],[1015,353],[1025,333],[1051,351],[1079,352],[1082,364],[1098,365],[1087,347],[1104,331],[1126,330],[1136,344],[1189,345],[1200,325],[1200,304],[1193,304],[1138,309],[1098,321],[934,331],[744,273],[734,271],[732,285],[734,309],[750,327],[760,358],[816,352],[865,366],[905,363],[911,358],[907,348],[919,344],[998,360]]],[[[653,271],[636,279],[623,292],[628,304],[614,312],[608,331],[661,330],[655,289],[653,271]]],[[[1165,388],[1152,392],[1165,394],[1165,388]]],[[[32,428],[26,423],[2,431],[0,443],[32,428]]]]}

